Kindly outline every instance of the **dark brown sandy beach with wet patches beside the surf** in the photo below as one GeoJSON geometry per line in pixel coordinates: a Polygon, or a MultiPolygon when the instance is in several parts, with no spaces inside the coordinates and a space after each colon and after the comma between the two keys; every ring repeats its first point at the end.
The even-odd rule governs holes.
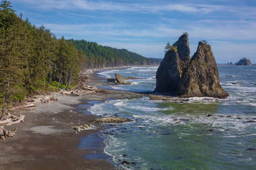
{"type": "MultiPolygon", "coordinates": [[[[86,84],[108,85],[103,78],[91,74],[86,84]]],[[[55,93],[57,102],[39,104],[32,110],[17,112],[26,116],[24,123],[10,126],[18,128],[12,139],[0,141],[0,170],[11,169],[114,169],[103,155],[103,141],[95,133],[105,129],[76,134],[73,128],[79,124],[93,124],[87,108],[91,101],[104,102],[110,98],[140,98],[142,94],[117,90],[98,90],[95,94],[67,96],[55,93]],[[85,114],[87,113],[87,114],[85,114]],[[94,135],[94,136],[93,136],[94,135]],[[88,143],[78,147],[81,140],[88,143]]],[[[9,127],[8,127],[9,128],[9,127]]]]}

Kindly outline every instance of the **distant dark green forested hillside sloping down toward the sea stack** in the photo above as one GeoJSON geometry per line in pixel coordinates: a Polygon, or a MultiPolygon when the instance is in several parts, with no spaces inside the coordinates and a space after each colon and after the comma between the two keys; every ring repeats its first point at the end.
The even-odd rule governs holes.
{"type": "Polygon", "coordinates": [[[85,40],[69,39],[67,42],[73,43],[77,50],[85,54],[83,56],[83,66],[85,68],[158,64],[156,60],[144,58],[126,49],[110,48],[85,40]]]}

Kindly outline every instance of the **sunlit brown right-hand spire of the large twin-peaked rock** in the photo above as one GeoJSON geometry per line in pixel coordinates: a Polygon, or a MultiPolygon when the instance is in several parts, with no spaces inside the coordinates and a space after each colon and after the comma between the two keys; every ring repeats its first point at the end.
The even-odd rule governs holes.
{"type": "Polygon", "coordinates": [[[208,44],[201,41],[179,82],[178,94],[184,97],[210,96],[226,98],[228,93],[220,86],[218,66],[208,44]]]}

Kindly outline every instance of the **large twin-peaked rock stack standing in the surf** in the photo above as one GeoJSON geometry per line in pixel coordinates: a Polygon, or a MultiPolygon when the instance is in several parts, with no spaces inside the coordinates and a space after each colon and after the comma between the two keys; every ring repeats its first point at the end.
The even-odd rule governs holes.
{"type": "Polygon", "coordinates": [[[226,98],[229,94],[220,86],[218,67],[210,45],[200,41],[198,50],[190,56],[187,33],[171,46],[157,70],[155,92],[181,97],[226,98]]]}

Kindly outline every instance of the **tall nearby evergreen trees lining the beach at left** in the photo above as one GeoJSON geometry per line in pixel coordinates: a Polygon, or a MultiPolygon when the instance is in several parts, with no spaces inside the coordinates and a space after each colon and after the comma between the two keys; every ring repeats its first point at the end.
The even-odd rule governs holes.
{"type": "Polygon", "coordinates": [[[77,82],[81,56],[73,44],[15,15],[9,1],[1,1],[0,35],[0,103],[77,82]]]}

